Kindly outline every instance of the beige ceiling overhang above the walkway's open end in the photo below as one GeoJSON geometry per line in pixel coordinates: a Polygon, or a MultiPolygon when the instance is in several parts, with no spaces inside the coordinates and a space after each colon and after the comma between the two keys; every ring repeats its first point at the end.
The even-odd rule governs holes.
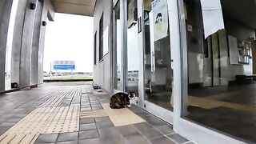
{"type": "Polygon", "coordinates": [[[56,13],[94,16],[96,0],[51,0],[56,13]]]}

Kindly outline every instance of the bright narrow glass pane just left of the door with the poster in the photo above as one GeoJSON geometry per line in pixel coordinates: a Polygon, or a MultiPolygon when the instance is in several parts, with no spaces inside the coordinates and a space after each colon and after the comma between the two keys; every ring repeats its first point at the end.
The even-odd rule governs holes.
{"type": "Polygon", "coordinates": [[[127,14],[126,91],[135,91],[138,95],[138,70],[141,61],[138,49],[137,1],[127,0],[127,14]]]}

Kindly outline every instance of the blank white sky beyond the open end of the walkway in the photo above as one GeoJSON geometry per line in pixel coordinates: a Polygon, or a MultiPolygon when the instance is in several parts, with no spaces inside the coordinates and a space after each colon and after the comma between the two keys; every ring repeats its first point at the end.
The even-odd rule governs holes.
{"type": "Polygon", "coordinates": [[[56,13],[46,25],[44,71],[57,60],[75,61],[74,72],[93,72],[93,30],[93,17],[56,13]]]}

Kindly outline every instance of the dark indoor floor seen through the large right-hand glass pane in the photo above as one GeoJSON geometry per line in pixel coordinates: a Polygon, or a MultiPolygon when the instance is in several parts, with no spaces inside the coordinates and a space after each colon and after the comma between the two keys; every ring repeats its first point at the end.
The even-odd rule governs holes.
{"type": "MultiPolygon", "coordinates": [[[[213,86],[204,88],[190,88],[189,95],[195,98],[205,98],[207,106],[204,109],[190,106],[187,118],[210,129],[221,131],[242,141],[256,143],[256,83],[232,84],[230,86],[213,86]],[[217,106],[218,102],[224,105],[217,106]],[[228,106],[233,105],[233,106],[228,106]]],[[[204,102],[205,104],[206,102],[204,102]]]]}

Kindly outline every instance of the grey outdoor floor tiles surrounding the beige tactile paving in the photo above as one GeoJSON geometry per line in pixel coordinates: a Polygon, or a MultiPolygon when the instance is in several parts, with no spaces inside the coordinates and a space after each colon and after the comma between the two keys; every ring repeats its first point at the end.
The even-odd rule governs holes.
{"type": "MultiPolygon", "coordinates": [[[[50,94],[62,90],[76,90],[77,93],[67,94],[58,106],[80,104],[80,110],[83,111],[101,110],[102,103],[109,102],[110,99],[108,94],[94,93],[90,82],[50,83],[32,90],[5,94],[0,96],[0,135],[46,102],[50,94]]],[[[35,143],[189,143],[186,138],[175,134],[172,126],[154,115],[137,106],[131,106],[130,110],[146,122],[114,126],[109,117],[80,118],[78,131],[40,134],[35,143]]]]}

